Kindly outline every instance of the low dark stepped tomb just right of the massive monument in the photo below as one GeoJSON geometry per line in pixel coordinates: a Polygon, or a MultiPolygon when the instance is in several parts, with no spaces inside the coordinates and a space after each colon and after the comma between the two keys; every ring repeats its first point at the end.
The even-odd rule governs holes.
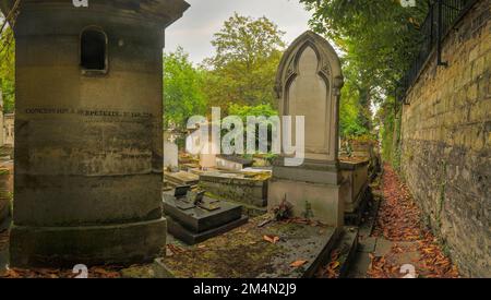
{"type": "MultiPolygon", "coordinates": [[[[205,197],[204,201],[211,201],[205,197]]],[[[177,239],[196,244],[213,237],[230,231],[248,223],[242,216],[242,206],[219,202],[216,211],[206,211],[194,207],[181,209],[171,193],[164,193],[164,213],[168,217],[168,231],[177,239]]]]}

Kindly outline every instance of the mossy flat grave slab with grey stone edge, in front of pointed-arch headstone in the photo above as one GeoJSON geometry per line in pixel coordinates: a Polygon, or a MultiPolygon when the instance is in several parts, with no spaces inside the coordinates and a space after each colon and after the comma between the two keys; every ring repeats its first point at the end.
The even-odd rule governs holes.
{"type": "Polygon", "coordinates": [[[328,259],[339,229],[315,223],[273,221],[267,214],[193,247],[180,247],[163,257],[177,278],[303,278],[312,277],[328,259]],[[276,243],[265,236],[278,237],[276,243]],[[304,262],[300,266],[294,263],[304,262]]]}

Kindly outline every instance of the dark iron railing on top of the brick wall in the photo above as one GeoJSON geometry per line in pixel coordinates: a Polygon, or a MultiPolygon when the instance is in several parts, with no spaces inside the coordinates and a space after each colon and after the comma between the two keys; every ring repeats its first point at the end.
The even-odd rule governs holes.
{"type": "Polygon", "coordinates": [[[416,83],[428,60],[436,51],[436,64],[446,67],[442,60],[442,43],[458,21],[479,0],[435,0],[430,3],[429,13],[420,31],[422,36],[421,48],[409,70],[400,80],[396,97],[405,100],[409,88],[416,83]]]}

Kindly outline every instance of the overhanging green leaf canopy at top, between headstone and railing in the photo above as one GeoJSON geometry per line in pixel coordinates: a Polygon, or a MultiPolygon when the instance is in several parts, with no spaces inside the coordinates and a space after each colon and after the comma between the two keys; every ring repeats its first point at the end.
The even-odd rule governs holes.
{"type": "Polygon", "coordinates": [[[313,10],[314,31],[332,38],[347,53],[346,60],[359,71],[362,83],[382,92],[394,89],[418,49],[419,24],[428,12],[426,0],[417,0],[415,8],[403,8],[399,1],[300,2],[313,10]]]}

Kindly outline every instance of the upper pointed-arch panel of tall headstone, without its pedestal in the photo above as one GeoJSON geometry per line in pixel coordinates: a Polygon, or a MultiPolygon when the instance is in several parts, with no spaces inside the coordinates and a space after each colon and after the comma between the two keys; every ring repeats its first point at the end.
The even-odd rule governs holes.
{"type": "Polygon", "coordinates": [[[306,116],[307,159],[337,161],[343,85],[336,51],[313,32],[298,37],[282,58],[275,87],[279,112],[306,116]]]}

